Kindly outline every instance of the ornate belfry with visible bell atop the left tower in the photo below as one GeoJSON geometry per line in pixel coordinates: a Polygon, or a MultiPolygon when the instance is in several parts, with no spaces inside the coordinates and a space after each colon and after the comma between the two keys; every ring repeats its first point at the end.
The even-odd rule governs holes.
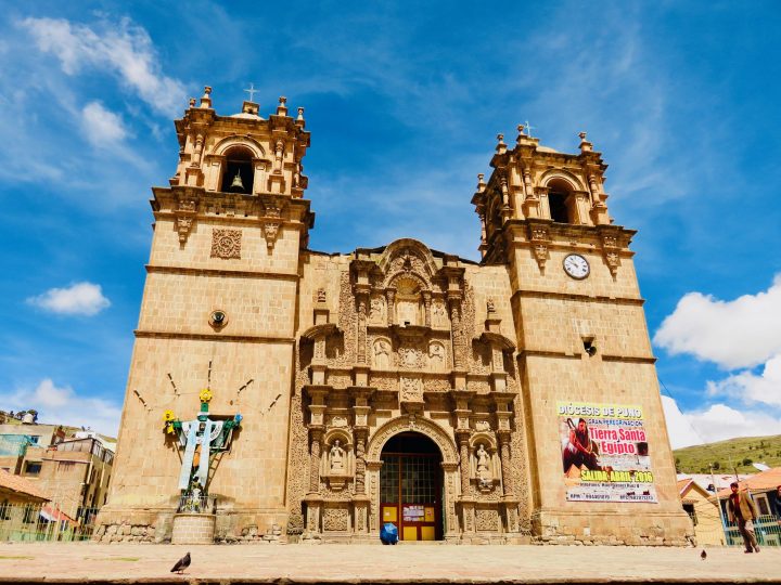
{"type": "MultiPolygon", "coordinates": [[[[254,90],[253,90],[254,92],[254,90]]],[[[300,246],[313,225],[309,202],[304,199],[307,178],[302,164],[309,146],[304,108],[289,116],[280,98],[268,118],[259,105],[245,101],[239,114],[218,115],[212,88],[190,100],[176,120],[179,164],[170,188],[155,188],[153,207],[177,216],[182,247],[203,214],[254,218],[264,227],[269,249],[284,226],[295,227],[300,246]]]]}

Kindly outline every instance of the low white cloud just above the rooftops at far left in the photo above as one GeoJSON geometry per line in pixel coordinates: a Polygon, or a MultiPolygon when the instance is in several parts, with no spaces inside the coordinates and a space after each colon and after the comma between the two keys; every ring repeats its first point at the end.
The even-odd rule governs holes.
{"type": "Polygon", "coordinates": [[[116,437],[121,408],[103,399],[76,393],[69,386],[56,387],[44,378],[36,388],[21,388],[11,394],[5,410],[38,411],[38,421],[51,425],[89,427],[116,437]]]}

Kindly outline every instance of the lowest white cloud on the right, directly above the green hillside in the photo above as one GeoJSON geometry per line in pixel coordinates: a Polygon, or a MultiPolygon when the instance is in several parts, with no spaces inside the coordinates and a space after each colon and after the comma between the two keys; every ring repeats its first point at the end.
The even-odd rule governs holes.
{"type": "Polygon", "coordinates": [[[781,428],[781,418],[761,411],[737,411],[726,404],[712,404],[703,411],[682,413],[669,396],[662,396],[662,404],[673,448],[735,437],[778,434],[781,428]]]}

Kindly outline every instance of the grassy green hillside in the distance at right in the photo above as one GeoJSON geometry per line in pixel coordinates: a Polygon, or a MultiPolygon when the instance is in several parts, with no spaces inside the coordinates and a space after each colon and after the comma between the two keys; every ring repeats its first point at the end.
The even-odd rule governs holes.
{"type": "Polygon", "coordinates": [[[709,473],[714,471],[756,473],[752,463],[781,467],[781,434],[771,437],[741,437],[717,443],[706,443],[673,452],[679,473],[709,473]]]}

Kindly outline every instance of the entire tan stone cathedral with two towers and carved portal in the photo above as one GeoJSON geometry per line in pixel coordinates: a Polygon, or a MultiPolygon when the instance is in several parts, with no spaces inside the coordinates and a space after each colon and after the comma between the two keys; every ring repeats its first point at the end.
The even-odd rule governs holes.
{"type": "Polygon", "coordinates": [[[586,135],[498,138],[474,262],[310,249],[305,126],[209,88],[176,121],[95,538],[684,544],[635,232],[586,135]]]}

